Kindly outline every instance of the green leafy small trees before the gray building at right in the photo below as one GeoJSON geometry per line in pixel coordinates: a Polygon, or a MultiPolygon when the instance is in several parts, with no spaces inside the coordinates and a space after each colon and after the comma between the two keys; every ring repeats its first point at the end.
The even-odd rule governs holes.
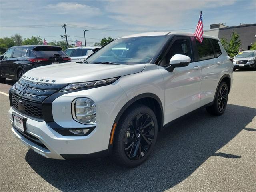
{"type": "Polygon", "coordinates": [[[225,38],[221,38],[220,42],[231,58],[238,54],[241,45],[241,40],[239,39],[239,35],[237,32],[232,32],[232,36],[230,38],[229,43],[225,38]]]}

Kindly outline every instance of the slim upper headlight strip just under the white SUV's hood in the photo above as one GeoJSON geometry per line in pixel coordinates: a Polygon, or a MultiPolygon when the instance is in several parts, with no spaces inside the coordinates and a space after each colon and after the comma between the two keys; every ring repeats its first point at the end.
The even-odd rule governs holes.
{"type": "Polygon", "coordinates": [[[117,79],[118,79],[118,77],[104,79],[104,80],[98,80],[98,81],[83,82],[83,83],[71,83],[68,86],[64,87],[60,91],[68,91],[68,90],[73,90],[73,89],[80,89],[80,88],[85,88],[85,87],[110,84],[110,83],[113,83],[114,81],[116,81],[117,79]]]}

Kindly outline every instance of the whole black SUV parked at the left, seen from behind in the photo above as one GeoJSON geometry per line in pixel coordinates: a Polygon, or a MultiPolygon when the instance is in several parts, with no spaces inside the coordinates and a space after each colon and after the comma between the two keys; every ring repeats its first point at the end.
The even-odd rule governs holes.
{"type": "Polygon", "coordinates": [[[70,62],[59,46],[24,45],[9,48],[0,57],[0,82],[18,80],[26,71],[44,65],[70,62]]]}

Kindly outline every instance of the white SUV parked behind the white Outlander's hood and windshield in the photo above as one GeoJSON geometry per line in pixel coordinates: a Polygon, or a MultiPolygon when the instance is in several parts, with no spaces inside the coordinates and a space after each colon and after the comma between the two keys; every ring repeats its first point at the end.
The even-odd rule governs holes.
{"type": "Polygon", "coordinates": [[[65,53],[71,58],[72,62],[83,61],[93,52],[98,50],[97,46],[72,47],[68,48],[65,53]]]}

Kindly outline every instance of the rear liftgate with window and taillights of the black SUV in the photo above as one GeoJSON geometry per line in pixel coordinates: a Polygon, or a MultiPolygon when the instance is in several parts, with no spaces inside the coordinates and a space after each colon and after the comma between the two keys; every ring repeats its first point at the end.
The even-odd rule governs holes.
{"type": "Polygon", "coordinates": [[[70,58],[61,47],[38,46],[33,48],[37,59],[37,66],[70,62],[70,58]]]}

